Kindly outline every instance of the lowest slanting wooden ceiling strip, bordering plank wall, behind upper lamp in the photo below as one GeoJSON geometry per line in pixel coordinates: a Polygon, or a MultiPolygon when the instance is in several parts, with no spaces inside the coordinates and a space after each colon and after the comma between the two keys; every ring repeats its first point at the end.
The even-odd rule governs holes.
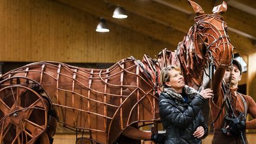
{"type": "MultiPolygon", "coordinates": [[[[161,41],[165,41],[173,46],[177,46],[178,42],[183,40],[184,34],[167,25],[156,23],[155,21],[149,20],[148,18],[140,15],[133,14],[127,11],[128,18],[119,20],[112,18],[114,8],[116,6],[108,4],[103,0],[88,0],[87,4],[82,0],[57,0],[63,2],[69,6],[81,9],[82,11],[88,12],[89,14],[95,15],[96,17],[104,17],[107,21],[122,25],[123,27],[130,28],[139,33],[145,34],[146,36],[153,37],[161,41]]],[[[173,47],[176,49],[176,47],[173,47]]]]}

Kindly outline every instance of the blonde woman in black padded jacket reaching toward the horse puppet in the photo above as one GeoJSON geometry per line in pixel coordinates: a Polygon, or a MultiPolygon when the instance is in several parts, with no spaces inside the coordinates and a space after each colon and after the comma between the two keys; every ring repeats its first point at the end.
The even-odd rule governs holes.
{"type": "Polygon", "coordinates": [[[167,143],[201,143],[208,128],[203,123],[201,107],[212,97],[211,89],[200,94],[184,84],[180,68],[168,66],[160,74],[162,92],[159,96],[159,114],[166,132],[167,143]]]}

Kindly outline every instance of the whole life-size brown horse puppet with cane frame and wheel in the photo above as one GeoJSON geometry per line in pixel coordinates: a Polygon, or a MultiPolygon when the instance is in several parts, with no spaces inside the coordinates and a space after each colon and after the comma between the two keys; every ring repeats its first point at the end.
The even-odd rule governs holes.
{"type": "Polygon", "coordinates": [[[36,62],[1,76],[1,143],[52,143],[56,121],[87,133],[91,143],[124,143],[121,135],[150,139],[151,133],[138,128],[159,120],[159,73],[164,66],[181,66],[186,84],[199,88],[209,62],[217,68],[232,59],[233,46],[220,16],[226,3],[204,14],[198,4],[188,2],[196,23],[176,52],[164,49],[158,59],[144,55],[141,62],[129,57],[108,69],[36,62]]]}

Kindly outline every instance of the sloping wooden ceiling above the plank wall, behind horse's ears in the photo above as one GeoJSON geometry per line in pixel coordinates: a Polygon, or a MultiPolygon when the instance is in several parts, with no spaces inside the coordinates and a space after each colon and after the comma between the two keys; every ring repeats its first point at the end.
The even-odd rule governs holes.
{"type": "MultiPolygon", "coordinates": [[[[96,17],[130,28],[177,46],[183,40],[196,16],[187,0],[56,0],[96,17]],[[128,18],[112,18],[117,7],[126,9],[128,18]]],[[[206,13],[212,14],[219,0],[195,0],[206,13]]],[[[228,34],[236,51],[243,54],[256,52],[256,2],[226,0],[228,10],[223,14],[228,34]]]]}

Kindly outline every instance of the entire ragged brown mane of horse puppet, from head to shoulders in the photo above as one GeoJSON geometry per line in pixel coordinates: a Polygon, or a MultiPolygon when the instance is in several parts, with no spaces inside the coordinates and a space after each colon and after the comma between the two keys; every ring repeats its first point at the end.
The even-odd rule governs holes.
{"type": "Polygon", "coordinates": [[[195,43],[196,40],[196,24],[194,24],[187,34],[185,34],[183,41],[178,43],[177,50],[174,52],[163,49],[157,59],[144,55],[142,59],[142,67],[148,72],[148,80],[152,81],[158,94],[161,92],[160,72],[161,69],[175,65],[181,68],[185,79],[185,84],[190,87],[199,88],[203,83],[204,68],[206,68],[206,59],[201,55],[199,46],[195,43]],[[150,76],[149,76],[150,75],[150,76]]]}

